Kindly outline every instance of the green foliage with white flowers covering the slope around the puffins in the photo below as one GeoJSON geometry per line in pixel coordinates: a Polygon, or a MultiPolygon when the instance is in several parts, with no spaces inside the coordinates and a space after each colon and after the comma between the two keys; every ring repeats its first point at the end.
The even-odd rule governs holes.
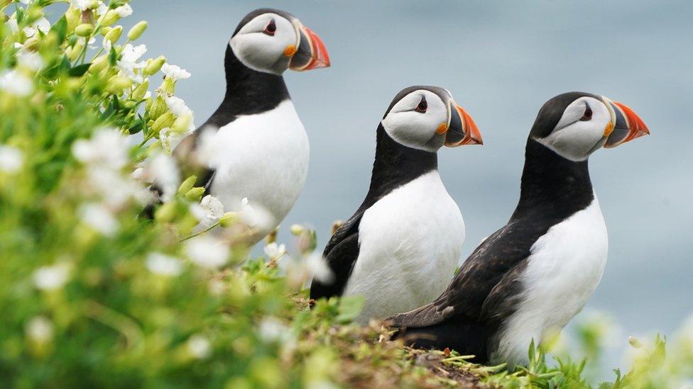
{"type": "MultiPolygon", "coordinates": [[[[133,41],[146,23],[119,26],[126,0],[0,8],[1,386],[588,385],[584,361],[547,366],[541,349],[508,372],[388,342],[377,323],[350,324],[359,299],[309,310],[315,232],[293,226],[291,256],[270,237],[268,257],[246,261],[251,209],[201,199],[169,156],[194,128],[174,96],[190,74],[165,57],[141,60],[146,47],[133,41]],[[163,191],[155,220],[139,217],[151,181],[163,191]]],[[[599,328],[579,332],[595,361],[599,328]]],[[[631,344],[632,370],[604,388],[693,376],[693,323],[668,349],[659,338],[631,344]]]]}

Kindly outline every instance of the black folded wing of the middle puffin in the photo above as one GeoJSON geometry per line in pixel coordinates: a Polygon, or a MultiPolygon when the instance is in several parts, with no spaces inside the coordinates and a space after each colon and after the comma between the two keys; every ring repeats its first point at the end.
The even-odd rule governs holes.
{"type": "Polygon", "coordinates": [[[330,298],[344,293],[346,281],[359,258],[359,223],[365,210],[359,210],[334,232],[322,256],[332,271],[332,282],[322,283],[313,279],[310,285],[310,298],[330,298]]]}

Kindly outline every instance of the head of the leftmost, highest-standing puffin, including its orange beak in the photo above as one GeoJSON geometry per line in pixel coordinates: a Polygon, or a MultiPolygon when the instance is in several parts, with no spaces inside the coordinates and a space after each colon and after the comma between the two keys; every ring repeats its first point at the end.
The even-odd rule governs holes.
{"type": "Polygon", "coordinates": [[[271,74],[286,69],[329,67],[329,55],[320,37],[292,14],[278,9],[256,9],[239,23],[229,43],[247,67],[271,74]]]}

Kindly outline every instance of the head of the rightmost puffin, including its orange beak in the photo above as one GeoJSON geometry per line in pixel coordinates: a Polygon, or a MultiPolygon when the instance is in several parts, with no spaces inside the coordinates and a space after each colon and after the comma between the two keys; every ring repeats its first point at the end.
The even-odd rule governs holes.
{"type": "Polygon", "coordinates": [[[542,106],[530,138],[577,162],[600,147],[616,147],[649,133],[643,120],[626,104],[604,96],[570,92],[542,106]]]}

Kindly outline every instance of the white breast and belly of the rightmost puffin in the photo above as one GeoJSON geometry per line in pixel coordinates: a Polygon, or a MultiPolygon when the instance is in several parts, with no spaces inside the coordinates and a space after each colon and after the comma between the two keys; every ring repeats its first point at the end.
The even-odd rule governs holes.
{"type": "Polygon", "coordinates": [[[609,239],[596,196],[589,207],[551,227],[532,246],[523,298],[501,329],[495,358],[525,363],[532,339],[542,342],[582,310],[601,280],[609,239]]]}

